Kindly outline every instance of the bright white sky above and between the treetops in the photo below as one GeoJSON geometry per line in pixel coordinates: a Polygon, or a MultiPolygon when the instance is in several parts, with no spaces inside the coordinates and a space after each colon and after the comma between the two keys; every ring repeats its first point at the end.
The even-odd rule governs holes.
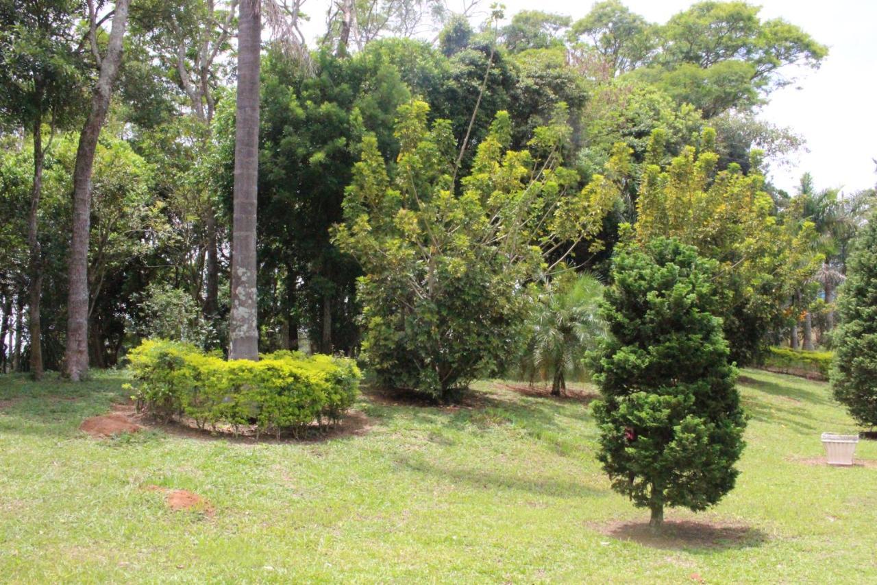
{"type": "MultiPolygon", "coordinates": [[[[623,0],[651,22],[663,23],[692,0],[623,0]]],[[[448,0],[451,8],[461,0],[448,0]]],[[[486,9],[490,0],[482,0],[486,9]]],[[[538,9],[581,18],[591,0],[503,0],[506,16],[538,9]]],[[[840,187],[845,192],[877,183],[872,158],[877,158],[877,0],[760,0],[761,18],[785,18],[829,47],[816,71],[804,71],[798,82],[775,91],[760,117],[789,126],[807,141],[809,152],[793,156],[788,164],[773,165],[771,176],[781,189],[794,191],[801,174],[809,170],[817,188],[840,187]]],[[[305,4],[311,22],[306,32],[324,30],[326,0],[305,4]]]]}

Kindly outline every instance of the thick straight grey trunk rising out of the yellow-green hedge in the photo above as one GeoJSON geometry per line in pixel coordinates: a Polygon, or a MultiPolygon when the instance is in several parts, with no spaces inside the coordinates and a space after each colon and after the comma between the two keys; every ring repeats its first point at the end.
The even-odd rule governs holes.
{"type": "Polygon", "coordinates": [[[244,0],[240,4],[238,19],[230,359],[259,359],[256,313],[256,194],[259,182],[260,45],[259,0],[244,0]]]}

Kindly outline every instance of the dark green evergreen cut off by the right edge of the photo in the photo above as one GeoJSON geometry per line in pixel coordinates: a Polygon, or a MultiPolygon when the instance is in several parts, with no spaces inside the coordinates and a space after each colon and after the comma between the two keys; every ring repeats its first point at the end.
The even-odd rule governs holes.
{"type": "Polygon", "coordinates": [[[866,427],[877,426],[877,222],[862,228],[838,296],[831,372],[834,397],[866,427]]]}

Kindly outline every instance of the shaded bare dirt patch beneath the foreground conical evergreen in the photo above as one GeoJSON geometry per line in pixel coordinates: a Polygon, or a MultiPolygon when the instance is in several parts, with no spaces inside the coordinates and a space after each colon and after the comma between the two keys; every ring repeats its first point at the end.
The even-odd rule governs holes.
{"type": "Polygon", "coordinates": [[[602,534],[619,540],[661,549],[727,549],[758,546],[766,540],[763,532],[744,524],[695,520],[668,520],[659,533],[647,522],[612,522],[594,526],[602,534]]]}

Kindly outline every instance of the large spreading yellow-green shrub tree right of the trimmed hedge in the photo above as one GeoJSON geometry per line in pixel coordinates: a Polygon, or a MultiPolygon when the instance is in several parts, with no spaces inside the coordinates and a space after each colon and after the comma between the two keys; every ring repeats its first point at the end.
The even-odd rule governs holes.
{"type": "Polygon", "coordinates": [[[391,172],[366,136],[335,239],[365,272],[371,369],[386,386],[446,399],[503,365],[523,324],[524,286],[595,237],[618,191],[599,176],[580,189],[560,166],[562,120],[538,128],[532,153],[515,151],[499,112],[458,195],[452,124],[430,126],[428,111],[419,101],[400,107],[391,172]]]}

